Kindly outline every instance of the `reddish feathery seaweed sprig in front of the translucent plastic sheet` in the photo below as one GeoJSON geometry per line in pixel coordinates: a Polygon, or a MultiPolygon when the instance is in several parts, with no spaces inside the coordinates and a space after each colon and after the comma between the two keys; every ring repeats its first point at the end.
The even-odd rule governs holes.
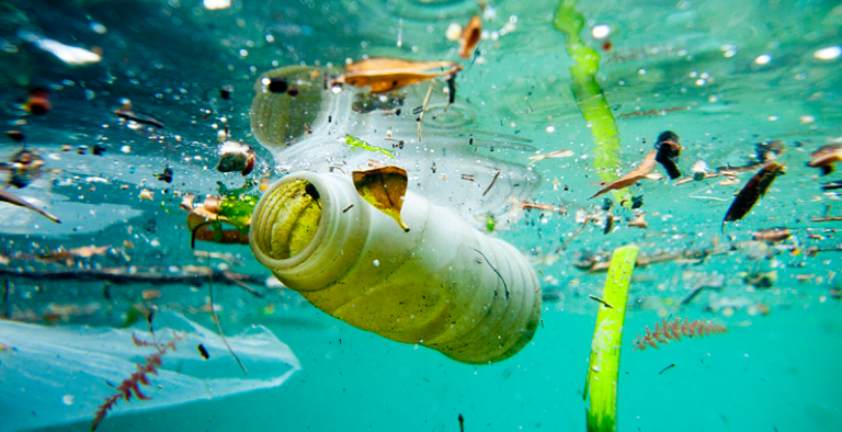
{"type": "Polygon", "coordinates": [[[132,333],[132,341],[135,342],[135,346],[151,346],[155,348],[157,352],[144,357],[144,364],[137,363],[137,372],[133,373],[128,378],[123,379],[123,383],[120,383],[118,386],[114,387],[113,384],[105,382],[105,384],[107,384],[110,387],[116,389],[117,393],[103,399],[104,402],[96,408],[96,413],[93,416],[93,424],[91,424],[91,431],[96,430],[96,427],[100,425],[100,422],[105,418],[105,414],[107,414],[109,411],[114,408],[118,399],[123,399],[128,402],[130,401],[133,394],[138,400],[151,399],[149,396],[146,396],[143,391],[140,391],[140,385],[150,385],[149,378],[146,376],[146,374],[158,375],[158,367],[160,367],[162,364],[161,356],[167,354],[168,350],[178,351],[175,349],[175,341],[184,339],[184,336],[179,336],[173,331],[172,338],[173,340],[167,343],[161,343],[156,342],[155,336],[152,336],[152,342],[147,342],[145,340],[138,339],[135,333],[132,333]]]}

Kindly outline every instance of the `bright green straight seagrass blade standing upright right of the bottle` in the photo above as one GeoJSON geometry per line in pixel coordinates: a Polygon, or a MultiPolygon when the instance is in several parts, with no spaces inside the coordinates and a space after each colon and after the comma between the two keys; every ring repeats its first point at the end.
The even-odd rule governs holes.
{"type": "Polygon", "coordinates": [[[596,330],[591,342],[591,362],[584,383],[584,399],[590,395],[588,414],[589,432],[612,432],[617,424],[617,380],[623,323],[626,320],[628,283],[637,259],[637,246],[624,246],[614,250],[605,281],[596,330]],[[611,307],[608,307],[608,305],[611,307]]]}

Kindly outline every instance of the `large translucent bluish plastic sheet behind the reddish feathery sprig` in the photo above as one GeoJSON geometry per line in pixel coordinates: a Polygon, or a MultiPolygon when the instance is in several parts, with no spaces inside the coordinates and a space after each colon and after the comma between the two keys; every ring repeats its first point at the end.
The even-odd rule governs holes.
{"type": "MultiPolygon", "coordinates": [[[[227,338],[249,370],[243,375],[216,332],[169,312],[158,315],[153,323],[160,339],[171,336],[170,330],[184,331],[186,337],[177,342],[178,351],[162,356],[158,376],[149,375],[151,386],[143,390],[151,400],[117,403],[104,422],[129,412],[277,387],[300,371],[289,348],[262,326],[227,338]],[[196,351],[200,343],[209,360],[196,351]]],[[[133,333],[152,340],[146,326],[146,321],[135,329],[0,321],[0,341],[8,346],[0,352],[0,429],[30,430],[93,419],[102,399],[114,393],[106,382],[129,377],[136,372],[135,363],[155,352],[132,341],[133,333]],[[72,395],[72,405],[65,403],[65,395],[72,395]]]]}

